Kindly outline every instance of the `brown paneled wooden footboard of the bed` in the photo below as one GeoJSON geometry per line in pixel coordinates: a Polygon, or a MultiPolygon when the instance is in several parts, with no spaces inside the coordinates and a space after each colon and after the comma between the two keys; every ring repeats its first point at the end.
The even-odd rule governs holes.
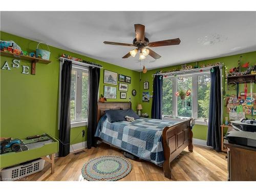
{"type": "Polygon", "coordinates": [[[166,126],[163,130],[164,177],[171,178],[171,162],[188,146],[188,151],[193,152],[193,132],[190,121],[180,122],[174,126],[166,126]]]}

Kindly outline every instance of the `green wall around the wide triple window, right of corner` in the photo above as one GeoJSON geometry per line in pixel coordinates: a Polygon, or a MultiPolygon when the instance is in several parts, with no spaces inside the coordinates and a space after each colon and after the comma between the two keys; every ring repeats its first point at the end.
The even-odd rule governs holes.
{"type": "MultiPolygon", "coordinates": [[[[238,65],[238,60],[239,57],[243,56],[241,58],[241,62],[245,63],[245,62],[250,62],[250,65],[255,65],[256,64],[256,52],[250,52],[250,53],[244,53],[244,54],[238,54],[238,55],[232,55],[232,56],[227,56],[227,57],[220,57],[220,58],[216,58],[216,59],[208,59],[208,60],[203,60],[203,61],[198,61],[198,66],[202,66],[202,65],[207,65],[208,63],[216,63],[216,62],[224,62],[224,65],[227,67],[227,71],[229,71],[230,68],[233,67],[237,67],[238,65]]],[[[187,66],[191,65],[191,66],[196,66],[196,62],[190,62],[190,63],[186,63],[187,66]]],[[[170,66],[170,67],[165,67],[165,68],[161,68],[161,69],[154,69],[154,70],[149,70],[147,71],[147,73],[143,74],[142,73],[142,78],[141,78],[141,82],[140,82],[140,98],[139,98],[139,102],[142,104],[143,110],[142,113],[147,113],[149,115],[151,115],[151,106],[152,106],[152,98],[150,99],[150,102],[142,102],[142,92],[143,91],[149,91],[150,95],[153,94],[153,74],[156,73],[157,71],[162,71],[162,72],[166,72],[166,71],[170,71],[170,70],[174,70],[174,69],[181,69],[181,65],[178,66],[170,66]],[[148,81],[150,82],[150,89],[149,90],[143,90],[143,82],[144,81],[148,81]]],[[[223,69],[223,74],[224,74],[224,69],[223,69]]],[[[248,93],[250,93],[250,86],[249,84],[247,85],[248,87],[248,93]]],[[[243,91],[244,89],[244,85],[242,84],[240,86],[240,91],[243,91]]],[[[227,84],[225,84],[225,91],[226,94],[236,94],[234,91],[227,91],[227,84]]],[[[254,84],[253,87],[253,92],[256,92],[256,85],[254,84]]],[[[224,100],[225,102],[225,100],[224,100]]],[[[229,117],[228,113],[226,113],[226,107],[224,106],[224,102],[223,102],[223,122],[225,120],[225,117],[229,117]]],[[[250,117],[250,116],[247,116],[250,117]]],[[[254,115],[255,118],[255,115],[254,115]]],[[[195,125],[193,127],[193,133],[194,133],[194,138],[197,139],[203,139],[206,140],[207,137],[207,126],[205,125],[195,125]]]]}

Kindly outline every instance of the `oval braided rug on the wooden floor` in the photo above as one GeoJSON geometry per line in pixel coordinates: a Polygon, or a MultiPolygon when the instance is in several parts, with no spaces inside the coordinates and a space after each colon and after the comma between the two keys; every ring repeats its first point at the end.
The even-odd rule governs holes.
{"type": "Polygon", "coordinates": [[[119,156],[101,156],[90,159],[82,166],[82,176],[88,181],[116,181],[132,170],[129,160],[119,156]]]}

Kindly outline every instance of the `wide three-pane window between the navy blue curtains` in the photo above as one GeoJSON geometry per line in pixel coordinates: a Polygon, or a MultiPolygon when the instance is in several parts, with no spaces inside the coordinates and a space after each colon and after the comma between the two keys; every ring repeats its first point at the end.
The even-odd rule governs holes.
{"type": "Polygon", "coordinates": [[[208,119],[210,99],[210,72],[163,78],[163,117],[193,117],[208,119]],[[190,90],[185,99],[176,92],[190,90]]]}

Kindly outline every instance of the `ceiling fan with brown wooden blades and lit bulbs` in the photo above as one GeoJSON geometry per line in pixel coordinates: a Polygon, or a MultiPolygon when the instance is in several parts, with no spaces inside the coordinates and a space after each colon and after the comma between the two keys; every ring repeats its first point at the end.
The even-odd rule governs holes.
{"type": "Polygon", "coordinates": [[[136,38],[133,39],[133,44],[125,44],[122,42],[111,42],[111,41],[104,41],[103,43],[108,44],[108,45],[114,45],[114,46],[137,47],[136,49],[133,49],[129,53],[124,55],[122,58],[128,58],[130,56],[135,57],[136,54],[139,52],[140,53],[139,59],[144,59],[147,55],[152,56],[154,59],[159,59],[161,57],[155,51],[153,51],[149,48],[145,48],[145,47],[173,46],[173,45],[180,44],[179,38],[150,42],[148,40],[148,38],[145,37],[145,26],[144,25],[135,24],[134,28],[135,28],[136,38]]]}

